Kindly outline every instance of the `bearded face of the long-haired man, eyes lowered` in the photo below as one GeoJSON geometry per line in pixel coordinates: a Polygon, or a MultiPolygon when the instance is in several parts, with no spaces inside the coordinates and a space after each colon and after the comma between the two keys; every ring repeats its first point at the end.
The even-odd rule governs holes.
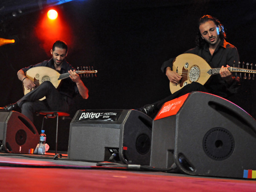
{"type": "Polygon", "coordinates": [[[221,29],[212,20],[202,23],[199,26],[199,30],[202,38],[209,45],[215,45],[221,41],[219,37],[221,29]]]}

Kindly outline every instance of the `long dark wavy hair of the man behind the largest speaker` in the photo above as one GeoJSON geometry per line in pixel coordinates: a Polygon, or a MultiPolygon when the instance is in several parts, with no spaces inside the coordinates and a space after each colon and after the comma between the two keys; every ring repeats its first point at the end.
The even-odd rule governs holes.
{"type": "Polygon", "coordinates": [[[202,39],[201,37],[201,33],[200,33],[200,30],[199,30],[199,26],[209,20],[212,20],[216,26],[220,27],[221,31],[220,31],[220,39],[225,39],[226,38],[226,33],[224,31],[224,26],[221,24],[221,22],[216,19],[215,17],[212,17],[211,15],[204,15],[203,17],[201,17],[199,20],[198,20],[198,32],[197,32],[197,35],[196,35],[196,38],[195,38],[195,44],[198,46],[198,47],[204,47],[204,44],[206,44],[206,41],[204,41],[204,39],[202,39]]]}

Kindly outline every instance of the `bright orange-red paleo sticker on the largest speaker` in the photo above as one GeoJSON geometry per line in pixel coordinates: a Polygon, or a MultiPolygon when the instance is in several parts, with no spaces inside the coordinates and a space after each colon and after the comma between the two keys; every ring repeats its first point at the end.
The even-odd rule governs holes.
{"type": "Polygon", "coordinates": [[[163,104],[162,108],[157,113],[157,116],[155,117],[154,120],[163,119],[167,116],[172,116],[177,114],[177,112],[180,110],[181,106],[186,101],[188,96],[189,96],[189,93],[163,104]]]}

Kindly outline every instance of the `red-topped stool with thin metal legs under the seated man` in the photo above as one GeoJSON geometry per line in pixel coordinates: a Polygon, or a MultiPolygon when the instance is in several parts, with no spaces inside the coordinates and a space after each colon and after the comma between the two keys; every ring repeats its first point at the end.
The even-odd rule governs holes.
{"type": "Polygon", "coordinates": [[[58,118],[62,117],[62,119],[65,119],[65,117],[70,116],[69,113],[65,113],[63,111],[38,111],[37,116],[44,115],[43,123],[42,123],[42,129],[44,128],[44,119],[48,118],[55,118],[57,117],[57,126],[56,126],[56,143],[55,143],[55,154],[57,154],[57,142],[58,142],[58,118]]]}

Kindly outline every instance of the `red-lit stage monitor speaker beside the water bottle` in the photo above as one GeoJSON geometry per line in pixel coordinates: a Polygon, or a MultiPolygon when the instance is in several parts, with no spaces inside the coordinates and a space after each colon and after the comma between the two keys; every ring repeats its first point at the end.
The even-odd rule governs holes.
{"type": "Polygon", "coordinates": [[[0,111],[1,150],[8,153],[29,154],[35,150],[39,135],[35,125],[16,111],[0,111]]]}

